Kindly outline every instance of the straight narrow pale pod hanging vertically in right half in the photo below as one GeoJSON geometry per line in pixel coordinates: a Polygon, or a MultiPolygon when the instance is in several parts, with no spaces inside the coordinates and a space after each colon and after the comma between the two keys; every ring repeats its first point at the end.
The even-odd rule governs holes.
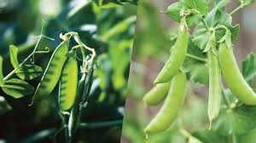
{"type": "Polygon", "coordinates": [[[212,121],[218,117],[221,106],[221,72],[218,63],[218,54],[213,54],[212,50],[207,52],[209,68],[209,99],[208,99],[208,117],[210,128],[212,121]]]}

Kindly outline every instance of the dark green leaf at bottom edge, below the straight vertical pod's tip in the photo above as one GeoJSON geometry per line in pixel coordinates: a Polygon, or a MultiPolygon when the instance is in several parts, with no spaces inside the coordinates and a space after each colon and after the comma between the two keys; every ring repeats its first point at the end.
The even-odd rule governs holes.
{"type": "Polygon", "coordinates": [[[216,143],[216,142],[227,143],[228,142],[226,137],[212,130],[198,131],[192,135],[195,136],[197,139],[203,141],[204,143],[216,143]]]}

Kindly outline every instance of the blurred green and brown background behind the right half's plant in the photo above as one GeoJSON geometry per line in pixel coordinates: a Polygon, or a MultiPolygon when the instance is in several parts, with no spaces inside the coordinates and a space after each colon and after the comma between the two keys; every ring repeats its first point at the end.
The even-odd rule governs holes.
{"type": "MultiPolygon", "coordinates": [[[[193,133],[207,130],[209,127],[208,89],[200,83],[190,82],[183,110],[177,122],[166,132],[150,134],[148,140],[143,134],[143,129],[159,111],[161,105],[144,106],[142,98],[153,87],[154,78],[168,59],[169,49],[174,43],[173,37],[176,35],[178,26],[177,22],[160,11],[166,11],[167,7],[175,2],[177,1],[139,1],[122,143],[183,143],[186,142],[184,131],[193,133]]],[[[227,11],[236,9],[238,5],[237,1],[232,1],[227,11]]],[[[247,54],[255,52],[256,20],[253,18],[253,14],[256,13],[255,8],[256,3],[253,3],[239,11],[233,18],[234,24],[238,22],[241,24],[241,32],[235,43],[236,60],[239,66],[247,54]]],[[[214,140],[211,141],[214,142],[214,140]]]]}

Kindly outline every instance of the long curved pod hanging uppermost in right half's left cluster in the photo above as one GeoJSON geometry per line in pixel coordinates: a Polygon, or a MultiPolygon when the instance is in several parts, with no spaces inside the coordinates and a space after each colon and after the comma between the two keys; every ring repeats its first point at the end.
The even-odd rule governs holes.
{"type": "Polygon", "coordinates": [[[183,65],[189,44],[189,31],[185,17],[181,19],[179,30],[177,41],[172,48],[172,54],[166,61],[166,65],[162,68],[160,74],[154,80],[154,84],[170,81],[183,65]]]}

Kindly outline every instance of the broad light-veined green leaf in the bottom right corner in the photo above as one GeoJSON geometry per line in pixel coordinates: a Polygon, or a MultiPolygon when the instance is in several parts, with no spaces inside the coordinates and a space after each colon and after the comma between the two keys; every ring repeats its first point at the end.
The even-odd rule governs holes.
{"type": "Polygon", "coordinates": [[[212,128],[219,134],[244,134],[256,127],[256,106],[239,106],[232,110],[223,110],[212,128]]]}

